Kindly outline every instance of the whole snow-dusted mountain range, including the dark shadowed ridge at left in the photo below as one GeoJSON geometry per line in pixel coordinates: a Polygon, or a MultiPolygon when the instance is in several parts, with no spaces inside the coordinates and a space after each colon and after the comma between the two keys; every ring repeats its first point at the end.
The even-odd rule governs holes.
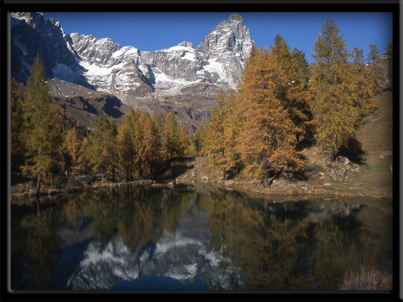
{"type": "Polygon", "coordinates": [[[166,49],[141,51],[110,38],[66,35],[59,22],[45,21],[42,13],[11,13],[11,37],[11,70],[17,80],[27,80],[39,54],[49,80],[58,78],[108,93],[124,105],[150,113],[159,106],[161,112],[178,113],[188,129],[199,126],[189,121],[199,102],[204,111],[197,114],[207,117],[219,89],[236,89],[253,43],[238,14],[218,24],[196,48],[183,41],[166,49]],[[164,105],[163,100],[173,104],[164,105]]]}

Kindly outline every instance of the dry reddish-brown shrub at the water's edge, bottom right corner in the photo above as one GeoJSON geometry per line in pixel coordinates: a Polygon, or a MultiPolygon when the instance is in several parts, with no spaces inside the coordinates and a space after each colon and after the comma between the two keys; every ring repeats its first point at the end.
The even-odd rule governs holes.
{"type": "MultiPolygon", "coordinates": [[[[341,289],[347,290],[379,290],[383,288],[385,274],[373,267],[362,266],[358,272],[346,272],[341,289]],[[381,286],[382,284],[382,286],[381,286]]],[[[386,279],[386,278],[385,278],[386,279]]],[[[387,282],[387,281],[385,281],[387,282]]]]}

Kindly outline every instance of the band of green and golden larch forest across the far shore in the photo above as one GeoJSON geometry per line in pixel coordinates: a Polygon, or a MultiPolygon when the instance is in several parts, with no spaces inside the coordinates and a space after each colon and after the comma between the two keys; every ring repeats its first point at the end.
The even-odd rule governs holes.
{"type": "Polygon", "coordinates": [[[173,113],[130,109],[121,123],[98,112],[95,130],[72,121],[53,104],[39,56],[30,78],[11,95],[11,173],[43,180],[56,175],[98,175],[105,181],[157,179],[170,161],[208,156],[212,167],[236,167],[264,188],[283,173],[298,175],[306,159],[302,144],[316,144],[334,161],[360,144],[356,131],[376,109],[376,97],[392,89],[392,43],[351,52],[338,25],[327,20],[314,42],[314,62],[277,35],[274,45],[253,45],[237,91],[216,97],[207,125],[195,133],[173,113]]]}

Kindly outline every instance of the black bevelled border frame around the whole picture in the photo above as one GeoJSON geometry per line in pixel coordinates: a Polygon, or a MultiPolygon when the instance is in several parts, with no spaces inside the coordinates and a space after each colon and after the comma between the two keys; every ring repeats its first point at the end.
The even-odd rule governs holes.
{"type": "MultiPolygon", "coordinates": [[[[265,1],[265,0],[1,0],[0,14],[1,23],[1,57],[2,57],[2,121],[6,123],[3,125],[2,132],[3,138],[7,137],[7,158],[5,153],[2,153],[2,174],[6,174],[7,190],[2,190],[4,196],[7,192],[7,205],[6,198],[2,198],[2,241],[5,246],[5,238],[8,239],[7,256],[5,257],[6,249],[2,251],[2,264],[1,269],[1,296],[2,301],[26,301],[26,300],[283,300],[283,301],[403,301],[402,294],[402,189],[401,183],[401,130],[403,129],[403,122],[401,121],[403,100],[401,91],[401,29],[402,26],[402,3],[403,0],[285,0],[285,1],[265,1]],[[25,290],[25,291],[12,291],[9,289],[9,269],[8,259],[10,253],[10,12],[11,11],[80,11],[80,12],[110,12],[110,11],[128,11],[133,8],[139,11],[159,11],[159,12],[191,12],[191,11],[264,11],[270,10],[272,12],[392,12],[393,13],[393,52],[399,54],[394,56],[393,68],[393,111],[398,113],[398,118],[393,119],[393,139],[399,143],[393,144],[395,156],[394,165],[398,167],[393,171],[393,290],[392,291],[338,291],[338,290],[289,290],[289,291],[67,291],[67,290],[25,290]],[[228,7],[230,5],[230,7],[228,7]],[[124,10],[122,8],[124,7],[124,10]],[[127,10],[128,9],[128,10],[127,10]],[[224,9],[224,10],[223,10],[224,9]],[[7,66],[7,68],[6,68],[7,66]],[[6,85],[4,85],[6,84],[6,85]],[[6,87],[4,87],[6,86],[6,87]],[[6,102],[7,100],[7,107],[6,102]],[[6,110],[7,108],[7,110],[6,110]],[[7,132],[6,132],[7,129],[7,132]],[[7,135],[7,136],[6,136],[7,135]],[[6,170],[7,167],[7,170],[6,170]],[[7,206],[7,211],[5,210],[7,206]],[[6,269],[7,267],[7,269],[6,269]],[[7,280],[7,284],[6,284],[7,280]]],[[[4,181],[3,181],[4,183],[4,181]]],[[[6,196],[4,196],[6,197],[6,196]]]]}

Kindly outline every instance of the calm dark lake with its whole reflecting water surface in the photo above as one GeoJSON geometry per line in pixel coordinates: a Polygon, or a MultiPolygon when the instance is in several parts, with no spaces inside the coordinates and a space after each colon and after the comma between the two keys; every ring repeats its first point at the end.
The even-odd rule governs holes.
{"type": "Polygon", "coordinates": [[[338,289],[391,273],[392,202],[128,185],[12,206],[11,239],[12,289],[338,289]]]}

